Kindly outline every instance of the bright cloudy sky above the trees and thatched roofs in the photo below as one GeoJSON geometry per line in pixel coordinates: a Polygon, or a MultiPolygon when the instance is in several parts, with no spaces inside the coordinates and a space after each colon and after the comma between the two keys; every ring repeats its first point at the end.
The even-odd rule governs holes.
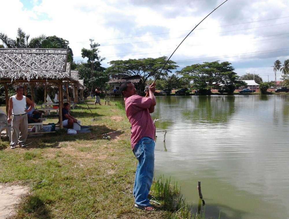
{"type": "MultiPolygon", "coordinates": [[[[112,60],[170,57],[189,32],[225,0],[0,0],[0,32],[16,39],[69,41],[74,61],[89,39],[99,43],[103,67],[112,60]]],[[[206,18],[171,57],[181,70],[228,61],[242,76],[274,81],[273,65],[289,59],[289,0],[228,0],[206,18]]],[[[1,44],[2,42],[0,42],[1,44]]],[[[276,79],[280,80],[281,72],[276,79]]]]}

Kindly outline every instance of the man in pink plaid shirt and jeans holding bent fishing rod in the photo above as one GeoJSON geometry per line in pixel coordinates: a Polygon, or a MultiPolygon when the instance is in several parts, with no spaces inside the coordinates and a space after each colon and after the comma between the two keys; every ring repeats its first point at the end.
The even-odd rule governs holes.
{"type": "Polygon", "coordinates": [[[138,159],[133,195],[135,207],[153,211],[147,198],[153,182],[155,125],[150,113],[155,110],[155,83],[149,87],[149,96],[142,97],[136,92],[131,81],[120,84],[125,100],[125,112],[131,124],[131,149],[138,159]]]}

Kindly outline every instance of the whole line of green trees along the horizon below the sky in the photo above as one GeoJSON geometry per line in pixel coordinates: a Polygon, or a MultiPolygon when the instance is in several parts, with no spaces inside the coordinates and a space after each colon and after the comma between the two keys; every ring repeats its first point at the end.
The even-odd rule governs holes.
{"type": "MultiPolygon", "coordinates": [[[[111,75],[125,74],[128,76],[140,75],[142,78],[141,90],[147,84],[152,83],[153,79],[158,75],[162,65],[168,57],[162,56],[158,58],[141,58],[129,60],[113,60],[108,62],[110,67],[101,66],[101,62],[105,57],[100,56],[99,46],[94,40],[90,39],[90,48],[82,48],[81,56],[87,58],[87,61],[75,63],[73,61],[73,51],[69,47],[69,41],[57,36],[40,35],[30,38],[21,28],[17,30],[16,39],[9,38],[6,34],[0,33],[0,48],[45,48],[45,49],[68,49],[68,62],[71,62],[71,69],[78,70],[79,77],[84,79],[84,85],[89,91],[94,91],[98,86],[102,90],[112,89],[107,82],[111,75]]],[[[229,62],[203,62],[202,64],[192,64],[181,70],[176,70],[179,66],[176,62],[169,60],[160,77],[156,80],[156,88],[162,89],[177,89],[177,88],[192,88],[197,90],[210,90],[218,88],[218,84],[222,84],[226,89],[234,90],[238,86],[244,86],[242,80],[255,80],[256,83],[262,84],[262,78],[257,74],[247,73],[243,76],[238,76],[234,72],[234,67],[229,62]],[[173,70],[175,72],[173,73],[173,70]],[[171,76],[169,76],[169,73],[171,76]]],[[[278,70],[282,72],[282,79],[289,84],[289,60],[281,62],[277,60],[273,66],[274,73],[278,70]]],[[[275,77],[276,83],[276,77],[275,77]]],[[[272,81],[266,86],[270,86],[272,81]]],[[[276,86],[276,84],[275,84],[276,86]]],[[[1,98],[1,97],[0,97],[1,98]]]]}

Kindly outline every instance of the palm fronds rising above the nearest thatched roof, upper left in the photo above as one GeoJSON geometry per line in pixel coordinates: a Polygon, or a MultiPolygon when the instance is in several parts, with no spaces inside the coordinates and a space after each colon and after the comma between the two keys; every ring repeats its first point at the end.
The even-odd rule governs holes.
{"type": "Polygon", "coordinates": [[[46,39],[45,35],[32,38],[29,42],[30,35],[18,28],[16,40],[9,38],[6,34],[0,33],[0,40],[7,48],[41,48],[41,43],[46,39]]]}

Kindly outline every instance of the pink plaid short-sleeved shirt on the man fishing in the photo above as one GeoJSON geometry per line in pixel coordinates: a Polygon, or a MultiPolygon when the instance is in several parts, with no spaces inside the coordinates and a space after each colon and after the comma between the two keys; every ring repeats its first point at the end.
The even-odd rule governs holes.
{"type": "Polygon", "coordinates": [[[133,95],[125,98],[125,112],[131,124],[131,149],[143,137],[155,140],[155,125],[149,114],[151,99],[133,95]]]}

